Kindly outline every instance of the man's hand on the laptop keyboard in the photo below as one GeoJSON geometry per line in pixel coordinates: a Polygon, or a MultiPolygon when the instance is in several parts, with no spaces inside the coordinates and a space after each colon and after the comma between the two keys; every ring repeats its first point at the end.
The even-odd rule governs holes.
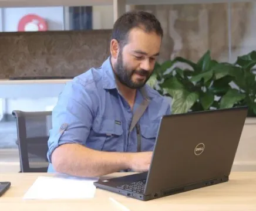
{"type": "Polygon", "coordinates": [[[152,152],[138,152],[134,153],[130,159],[130,169],[134,172],[149,171],[152,152]]]}

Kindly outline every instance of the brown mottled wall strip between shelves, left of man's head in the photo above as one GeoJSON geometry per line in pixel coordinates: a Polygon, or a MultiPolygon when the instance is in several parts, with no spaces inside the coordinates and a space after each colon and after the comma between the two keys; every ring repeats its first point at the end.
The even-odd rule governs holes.
{"type": "Polygon", "coordinates": [[[107,59],[110,35],[104,29],[1,33],[0,79],[75,77],[107,59]]]}

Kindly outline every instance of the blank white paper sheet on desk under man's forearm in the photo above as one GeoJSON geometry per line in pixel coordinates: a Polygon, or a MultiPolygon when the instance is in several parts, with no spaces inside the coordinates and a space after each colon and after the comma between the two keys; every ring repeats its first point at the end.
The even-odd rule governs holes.
{"type": "Polygon", "coordinates": [[[93,198],[98,178],[76,178],[67,175],[39,176],[23,199],[86,199],[93,198]]]}

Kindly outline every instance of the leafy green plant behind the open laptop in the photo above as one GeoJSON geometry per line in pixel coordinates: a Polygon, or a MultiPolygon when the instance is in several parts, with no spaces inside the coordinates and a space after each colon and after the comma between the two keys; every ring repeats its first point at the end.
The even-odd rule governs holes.
{"type": "Polygon", "coordinates": [[[156,63],[148,84],[172,98],[174,114],[247,105],[255,116],[255,64],[254,51],[231,64],[212,59],[208,50],[197,63],[183,57],[156,63]]]}

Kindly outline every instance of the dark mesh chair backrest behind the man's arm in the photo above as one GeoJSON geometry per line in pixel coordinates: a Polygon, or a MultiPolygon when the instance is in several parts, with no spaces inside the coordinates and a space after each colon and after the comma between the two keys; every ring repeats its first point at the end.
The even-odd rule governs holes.
{"type": "Polygon", "coordinates": [[[21,172],[47,172],[48,139],[52,128],[52,111],[14,110],[21,172]]]}

